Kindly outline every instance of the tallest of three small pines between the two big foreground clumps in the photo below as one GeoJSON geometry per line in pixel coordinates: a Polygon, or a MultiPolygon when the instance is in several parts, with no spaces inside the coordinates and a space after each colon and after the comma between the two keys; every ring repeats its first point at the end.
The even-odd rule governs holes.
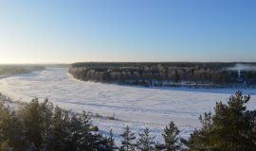
{"type": "Polygon", "coordinates": [[[179,146],[179,138],[178,138],[179,130],[174,125],[174,122],[171,122],[169,126],[166,126],[164,129],[163,138],[165,142],[165,149],[167,151],[176,151],[180,148],[179,146]]]}

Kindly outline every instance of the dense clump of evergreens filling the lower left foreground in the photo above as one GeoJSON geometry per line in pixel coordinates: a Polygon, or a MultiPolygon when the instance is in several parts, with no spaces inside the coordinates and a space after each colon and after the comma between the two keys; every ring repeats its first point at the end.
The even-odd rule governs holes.
{"type": "Polygon", "coordinates": [[[0,102],[0,150],[106,151],[108,141],[85,112],[54,109],[47,99],[33,99],[18,112],[0,102]]]}

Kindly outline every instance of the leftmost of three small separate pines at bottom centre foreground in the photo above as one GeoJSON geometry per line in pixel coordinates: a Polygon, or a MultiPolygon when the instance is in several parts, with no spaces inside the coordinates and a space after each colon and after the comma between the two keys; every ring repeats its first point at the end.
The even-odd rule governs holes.
{"type": "Polygon", "coordinates": [[[136,143],[134,141],[136,140],[135,133],[133,133],[129,126],[126,126],[124,128],[124,131],[121,134],[122,140],[121,140],[121,146],[120,151],[134,151],[136,147],[136,143]]]}

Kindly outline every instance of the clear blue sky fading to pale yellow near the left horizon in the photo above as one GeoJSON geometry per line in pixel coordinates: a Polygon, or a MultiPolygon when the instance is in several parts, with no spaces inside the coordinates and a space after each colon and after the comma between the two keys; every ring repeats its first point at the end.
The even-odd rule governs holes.
{"type": "Polygon", "coordinates": [[[0,63],[256,61],[256,0],[0,0],[0,63]]]}

